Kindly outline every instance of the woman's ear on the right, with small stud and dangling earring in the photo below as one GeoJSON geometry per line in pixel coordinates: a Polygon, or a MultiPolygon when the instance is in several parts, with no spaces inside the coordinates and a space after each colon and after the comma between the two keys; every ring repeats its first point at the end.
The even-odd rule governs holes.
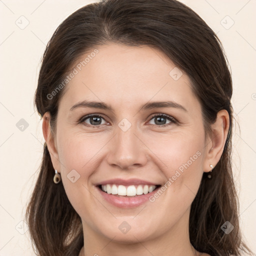
{"type": "Polygon", "coordinates": [[[219,161],[224,149],[227,132],[229,128],[229,114],[225,109],[218,111],[216,121],[211,124],[211,138],[208,139],[205,146],[205,158],[203,171],[208,172],[219,161]]]}

